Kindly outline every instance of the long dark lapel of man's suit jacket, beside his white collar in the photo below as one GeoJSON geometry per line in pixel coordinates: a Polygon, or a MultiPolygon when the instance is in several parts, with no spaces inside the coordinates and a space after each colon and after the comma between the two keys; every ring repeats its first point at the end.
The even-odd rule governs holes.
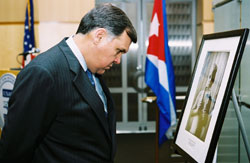
{"type": "Polygon", "coordinates": [[[80,66],[80,63],[78,62],[77,58],[75,57],[71,49],[68,47],[67,43],[65,41],[62,41],[59,44],[59,47],[62,49],[66,59],[68,60],[71,71],[75,74],[73,83],[77,87],[82,97],[94,110],[96,116],[101,121],[101,124],[104,127],[106,134],[111,139],[108,127],[108,121],[107,118],[105,117],[105,111],[103,108],[104,106],[99,95],[95,91],[94,87],[91,85],[87,74],[80,66]]]}

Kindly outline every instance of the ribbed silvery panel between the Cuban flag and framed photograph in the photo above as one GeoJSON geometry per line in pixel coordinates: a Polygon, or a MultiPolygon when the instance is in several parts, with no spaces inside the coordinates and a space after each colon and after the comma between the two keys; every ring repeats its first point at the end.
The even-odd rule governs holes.
{"type": "Polygon", "coordinates": [[[176,86],[187,86],[191,77],[192,3],[167,3],[169,48],[176,86]]]}

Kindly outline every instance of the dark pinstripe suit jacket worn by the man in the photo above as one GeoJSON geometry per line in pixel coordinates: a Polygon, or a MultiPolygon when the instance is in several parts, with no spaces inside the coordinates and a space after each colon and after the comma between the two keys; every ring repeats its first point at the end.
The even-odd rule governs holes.
{"type": "Polygon", "coordinates": [[[62,40],[17,76],[0,140],[0,162],[113,162],[115,110],[108,116],[71,49],[62,40]]]}

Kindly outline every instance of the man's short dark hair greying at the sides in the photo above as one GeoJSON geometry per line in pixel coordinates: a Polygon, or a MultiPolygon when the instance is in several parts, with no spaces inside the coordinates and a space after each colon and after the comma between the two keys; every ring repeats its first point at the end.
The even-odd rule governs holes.
{"type": "Polygon", "coordinates": [[[76,33],[86,34],[95,28],[105,28],[112,35],[120,36],[126,30],[132,42],[137,42],[136,30],[127,15],[111,4],[99,5],[81,20],[76,33]]]}

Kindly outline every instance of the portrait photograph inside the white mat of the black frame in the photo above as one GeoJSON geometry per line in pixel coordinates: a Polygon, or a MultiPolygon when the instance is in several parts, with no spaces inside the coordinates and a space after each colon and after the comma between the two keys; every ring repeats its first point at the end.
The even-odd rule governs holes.
{"type": "Polygon", "coordinates": [[[214,104],[225,72],[229,52],[208,52],[186,130],[204,141],[213,116],[214,104]]]}

